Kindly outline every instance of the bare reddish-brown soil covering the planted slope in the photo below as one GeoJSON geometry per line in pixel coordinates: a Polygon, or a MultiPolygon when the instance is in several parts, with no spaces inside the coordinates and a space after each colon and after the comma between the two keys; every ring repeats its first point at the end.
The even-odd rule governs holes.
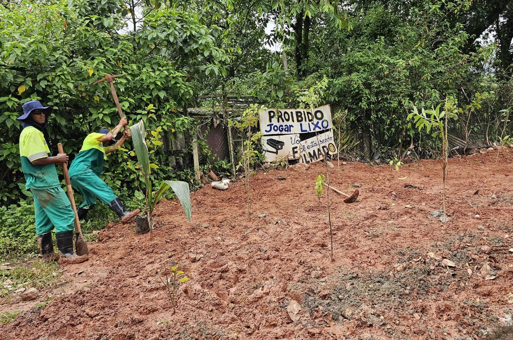
{"type": "Polygon", "coordinates": [[[361,188],[353,204],[329,193],[333,262],[326,197],[319,205],[314,191],[323,163],[252,176],[251,221],[243,181],[206,186],[192,194],[192,224],[165,201],[153,238],[103,230],[88,262],[63,267],[69,283],[46,292],[56,298],[0,338],[494,338],[513,325],[512,151],[498,163],[497,151],[449,160],[446,227],[431,215],[442,209],[440,161],[349,163],[340,177],[334,162],[334,187],[361,188]],[[174,314],[168,260],[190,278],[174,314]]]}

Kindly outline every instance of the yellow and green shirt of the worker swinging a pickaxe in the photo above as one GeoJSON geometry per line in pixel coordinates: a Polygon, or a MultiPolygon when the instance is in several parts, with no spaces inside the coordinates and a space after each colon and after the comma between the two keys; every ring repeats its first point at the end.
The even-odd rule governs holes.
{"type": "Polygon", "coordinates": [[[82,149],[78,151],[75,159],[69,167],[69,176],[83,174],[89,171],[94,172],[97,176],[102,174],[103,162],[107,158],[105,151],[108,147],[104,147],[102,142],[97,138],[103,137],[103,133],[90,133],[84,139],[82,149]]]}

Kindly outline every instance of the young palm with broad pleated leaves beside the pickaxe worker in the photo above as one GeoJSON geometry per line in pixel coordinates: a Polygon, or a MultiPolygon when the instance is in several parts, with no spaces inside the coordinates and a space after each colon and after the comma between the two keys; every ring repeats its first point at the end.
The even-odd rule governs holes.
{"type": "MultiPolygon", "coordinates": [[[[155,131],[151,131],[152,135],[152,144],[155,146],[159,146],[162,142],[157,141],[157,137],[159,136],[160,127],[155,131]]],[[[139,165],[139,170],[141,172],[142,182],[145,185],[145,209],[146,217],[148,219],[148,225],[150,228],[150,235],[152,235],[153,231],[153,210],[157,203],[159,203],[163,194],[171,188],[176,197],[179,199],[182,207],[184,208],[185,215],[189,222],[191,221],[192,214],[192,205],[190,199],[190,191],[189,184],[182,181],[163,181],[160,187],[156,192],[153,192],[153,182],[151,176],[151,169],[157,169],[158,166],[150,163],[149,161],[149,151],[148,145],[146,144],[146,129],[144,127],[144,122],[140,121],[137,124],[134,124],[130,127],[130,132],[132,133],[132,141],[135,149],[135,155],[137,156],[137,162],[139,165]]],[[[154,151],[154,150],[152,150],[154,151]]]]}

